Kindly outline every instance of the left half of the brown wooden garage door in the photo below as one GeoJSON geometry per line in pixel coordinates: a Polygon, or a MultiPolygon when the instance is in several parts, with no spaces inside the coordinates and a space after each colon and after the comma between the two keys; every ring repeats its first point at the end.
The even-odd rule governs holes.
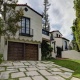
{"type": "Polygon", "coordinates": [[[8,42],[8,60],[23,60],[23,44],[8,42]]]}

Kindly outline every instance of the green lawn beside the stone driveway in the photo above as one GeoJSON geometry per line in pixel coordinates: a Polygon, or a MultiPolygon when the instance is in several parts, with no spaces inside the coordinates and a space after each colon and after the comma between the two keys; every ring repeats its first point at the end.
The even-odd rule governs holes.
{"type": "Polygon", "coordinates": [[[56,64],[74,70],[74,77],[80,78],[80,60],[51,60],[56,64]]]}

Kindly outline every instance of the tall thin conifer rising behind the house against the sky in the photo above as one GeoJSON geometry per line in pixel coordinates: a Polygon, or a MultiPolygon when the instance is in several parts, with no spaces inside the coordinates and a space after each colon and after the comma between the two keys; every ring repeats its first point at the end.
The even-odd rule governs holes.
{"type": "Polygon", "coordinates": [[[49,9],[49,1],[44,0],[44,12],[43,12],[43,29],[49,31],[50,30],[50,23],[49,23],[49,15],[48,15],[48,9],[49,9]]]}

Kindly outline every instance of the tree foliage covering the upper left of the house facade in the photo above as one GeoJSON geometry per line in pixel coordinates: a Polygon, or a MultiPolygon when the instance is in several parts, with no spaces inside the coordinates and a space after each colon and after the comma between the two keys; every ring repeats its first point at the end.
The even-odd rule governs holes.
{"type": "Polygon", "coordinates": [[[17,0],[0,0],[0,36],[15,35],[19,30],[18,22],[23,15],[23,9],[16,9],[17,2],[17,0]]]}

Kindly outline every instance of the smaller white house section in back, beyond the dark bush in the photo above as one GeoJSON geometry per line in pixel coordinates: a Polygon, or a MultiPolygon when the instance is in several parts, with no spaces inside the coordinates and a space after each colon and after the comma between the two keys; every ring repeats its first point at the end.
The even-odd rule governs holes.
{"type": "Polygon", "coordinates": [[[52,55],[57,55],[57,47],[60,47],[62,51],[69,50],[69,40],[62,37],[60,31],[50,32],[51,46],[53,47],[52,55]]]}

